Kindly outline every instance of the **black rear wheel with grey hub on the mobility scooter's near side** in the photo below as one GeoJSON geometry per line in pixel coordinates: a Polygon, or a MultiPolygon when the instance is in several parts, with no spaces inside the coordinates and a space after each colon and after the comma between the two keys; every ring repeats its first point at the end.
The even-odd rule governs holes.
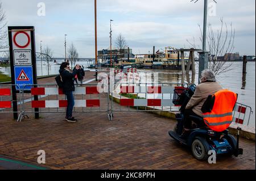
{"type": "Polygon", "coordinates": [[[208,159],[207,149],[205,145],[200,140],[196,139],[192,143],[192,153],[196,159],[206,160],[208,159]]]}

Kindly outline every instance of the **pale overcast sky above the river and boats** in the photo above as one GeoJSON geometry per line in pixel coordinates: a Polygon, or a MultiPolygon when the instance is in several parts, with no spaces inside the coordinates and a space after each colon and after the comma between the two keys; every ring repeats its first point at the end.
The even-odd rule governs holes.
{"type": "MultiPolygon", "coordinates": [[[[54,56],[64,56],[64,35],[73,43],[80,57],[94,57],[93,0],[0,0],[8,26],[35,26],[36,50],[48,45],[54,56]],[[38,16],[38,3],[46,5],[46,16],[38,16]]],[[[209,2],[213,2],[209,0],[209,2]]],[[[255,0],[217,0],[216,16],[208,22],[220,27],[220,18],[236,29],[234,52],[255,55],[255,0]]],[[[119,33],[133,53],[152,52],[172,46],[190,48],[187,39],[201,45],[203,0],[98,0],[98,49],[109,48],[110,19],[113,41],[119,33]]],[[[210,10],[213,10],[212,8],[210,10]]]]}

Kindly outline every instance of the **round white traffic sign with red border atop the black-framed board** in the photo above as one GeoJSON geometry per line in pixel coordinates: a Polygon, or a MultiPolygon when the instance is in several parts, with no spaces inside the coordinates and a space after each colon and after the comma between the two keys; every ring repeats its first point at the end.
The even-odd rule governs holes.
{"type": "Polygon", "coordinates": [[[14,44],[19,48],[26,48],[30,44],[30,36],[27,32],[18,31],[13,37],[14,44]]]}

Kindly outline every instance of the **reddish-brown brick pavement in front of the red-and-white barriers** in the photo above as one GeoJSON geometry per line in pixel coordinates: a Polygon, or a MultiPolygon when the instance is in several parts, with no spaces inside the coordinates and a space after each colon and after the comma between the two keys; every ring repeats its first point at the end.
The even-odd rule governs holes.
{"type": "Polygon", "coordinates": [[[105,112],[75,113],[77,123],[63,113],[21,123],[0,116],[0,154],[36,165],[38,150],[45,150],[50,169],[255,169],[255,142],[241,138],[243,155],[210,165],[168,136],[175,121],[151,113],[115,112],[113,121],[105,112]]]}

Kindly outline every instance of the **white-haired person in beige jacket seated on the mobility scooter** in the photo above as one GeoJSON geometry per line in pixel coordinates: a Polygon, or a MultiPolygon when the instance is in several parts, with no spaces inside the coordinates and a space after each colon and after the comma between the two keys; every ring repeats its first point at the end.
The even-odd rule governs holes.
{"type": "MultiPolygon", "coordinates": [[[[184,131],[189,131],[191,128],[191,120],[189,116],[203,117],[201,108],[209,95],[215,94],[222,90],[222,87],[216,82],[215,73],[212,70],[205,69],[201,73],[200,85],[196,87],[195,94],[189,100],[184,111],[184,131]]],[[[204,123],[199,123],[200,125],[204,123]]]]}

